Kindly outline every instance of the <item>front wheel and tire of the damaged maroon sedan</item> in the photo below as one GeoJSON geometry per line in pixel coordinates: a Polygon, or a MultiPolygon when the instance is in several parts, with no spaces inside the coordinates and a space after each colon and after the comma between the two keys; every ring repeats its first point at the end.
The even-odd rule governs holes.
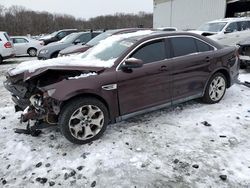
{"type": "Polygon", "coordinates": [[[108,122],[106,106],[89,97],[68,102],[62,108],[58,121],[61,133],[74,144],[87,144],[100,138],[108,122]]]}

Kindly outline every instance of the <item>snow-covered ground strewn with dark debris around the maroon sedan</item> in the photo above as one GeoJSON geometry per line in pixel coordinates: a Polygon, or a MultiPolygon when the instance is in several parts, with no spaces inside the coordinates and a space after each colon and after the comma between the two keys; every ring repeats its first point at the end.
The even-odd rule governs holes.
{"type": "Polygon", "coordinates": [[[0,187],[250,187],[249,88],[234,85],[219,104],[190,101],[110,125],[78,146],[55,128],[14,133],[24,125],[2,86],[13,61],[0,65],[0,187]]]}

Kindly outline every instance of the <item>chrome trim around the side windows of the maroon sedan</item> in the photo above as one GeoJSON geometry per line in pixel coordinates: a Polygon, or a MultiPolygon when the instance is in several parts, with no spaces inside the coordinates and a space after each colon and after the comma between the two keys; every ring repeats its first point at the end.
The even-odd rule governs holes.
{"type": "MultiPolygon", "coordinates": [[[[194,38],[194,39],[197,39],[197,40],[200,40],[201,42],[204,42],[206,43],[207,45],[211,46],[213,48],[213,50],[211,51],[215,51],[215,50],[218,50],[218,48],[216,48],[215,46],[209,44],[208,42],[202,40],[202,39],[199,39],[198,37],[195,37],[195,36],[190,36],[190,35],[176,35],[176,36],[166,36],[166,37],[158,37],[158,38],[154,38],[154,39],[149,39],[149,40],[146,40],[142,43],[140,43],[138,46],[136,46],[136,48],[134,48],[133,50],[131,50],[122,60],[121,62],[116,66],[116,72],[118,71],[121,71],[120,69],[120,66],[122,63],[124,63],[124,61],[131,55],[134,53],[134,51],[136,51],[138,48],[140,48],[142,45],[144,45],[145,43],[148,43],[148,42],[152,42],[152,41],[155,41],[155,40],[165,40],[165,43],[166,43],[166,39],[170,39],[170,38],[177,38],[177,37],[190,37],[190,38],[194,38]]],[[[166,44],[165,44],[166,46],[166,44]]],[[[166,48],[166,47],[165,47],[166,48]]],[[[196,52],[196,53],[192,53],[192,54],[187,54],[187,55],[184,55],[184,56],[178,56],[178,57],[171,57],[169,58],[168,60],[171,60],[171,59],[176,59],[176,58],[180,58],[180,57],[185,57],[185,56],[189,56],[189,55],[193,55],[193,54],[200,54],[200,53],[204,53],[204,52],[196,52]]],[[[164,59],[166,60],[166,59],[164,59]]],[[[153,63],[153,62],[152,62],[153,63]]],[[[147,63],[147,64],[150,64],[150,63],[147,63]]]]}

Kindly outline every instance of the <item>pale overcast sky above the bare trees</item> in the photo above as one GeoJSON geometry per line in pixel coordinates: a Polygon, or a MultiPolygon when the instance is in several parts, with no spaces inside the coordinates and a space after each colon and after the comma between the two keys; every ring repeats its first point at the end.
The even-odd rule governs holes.
{"type": "Polygon", "coordinates": [[[119,13],[153,12],[153,0],[0,0],[5,7],[21,5],[35,11],[89,19],[119,13]]]}

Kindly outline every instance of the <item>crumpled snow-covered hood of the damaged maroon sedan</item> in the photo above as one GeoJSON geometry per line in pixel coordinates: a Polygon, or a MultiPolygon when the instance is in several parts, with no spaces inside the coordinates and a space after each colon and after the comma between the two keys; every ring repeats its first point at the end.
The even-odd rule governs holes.
{"type": "Polygon", "coordinates": [[[109,61],[98,61],[82,59],[81,56],[60,57],[49,60],[26,61],[19,64],[16,68],[8,71],[9,77],[18,77],[24,81],[40,75],[47,70],[80,70],[100,72],[105,68],[113,66],[115,59],[109,61]]]}

